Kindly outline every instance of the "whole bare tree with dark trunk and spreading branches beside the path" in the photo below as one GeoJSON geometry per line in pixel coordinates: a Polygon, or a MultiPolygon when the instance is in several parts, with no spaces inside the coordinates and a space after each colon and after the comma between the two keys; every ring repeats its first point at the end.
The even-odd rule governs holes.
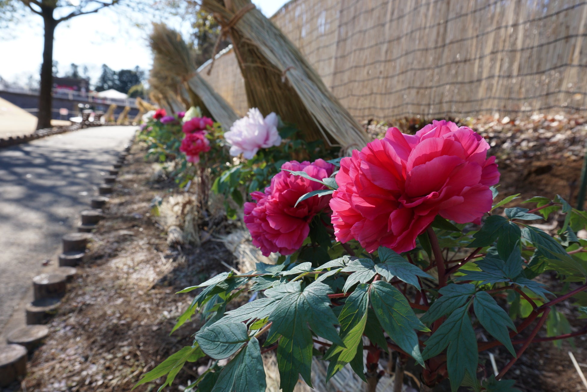
{"type": "Polygon", "coordinates": [[[76,16],[95,13],[100,9],[119,4],[122,0],[0,0],[0,27],[16,22],[25,11],[43,18],[45,37],[43,63],[41,65],[41,88],[39,91],[39,114],[37,129],[51,126],[51,90],[53,87],[53,40],[59,23],[76,16]]]}

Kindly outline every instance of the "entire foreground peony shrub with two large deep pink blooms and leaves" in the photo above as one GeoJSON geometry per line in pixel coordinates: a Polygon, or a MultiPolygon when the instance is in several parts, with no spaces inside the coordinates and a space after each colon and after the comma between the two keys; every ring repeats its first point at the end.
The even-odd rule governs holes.
{"type": "Polygon", "coordinates": [[[351,157],[281,164],[244,206],[253,244],[276,263],[182,290],[201,289],[174,330],[196,312],[203,326],[137,385],[171,385],[209,356],[191,390],[264,392],[262,354],[275,350],[284,392],[300,377],[312,386],[313,360],[326,361],[327,382],[346,367],[368,391],[392,371],[420,391],[447,379],[453,392],[518,391],[504,376],[529,344],[587,334],[566,319],[587,317],[587,241],[576,236],[587,213],[560,196],[501,198],[487,150],[473,130],[434,121],[413,136],[390,128],[351,157]],[[533,224],[553,214],[565,217],[558,230],[533,224]],[[553,274],[536,279],[547,271],[565,281],[556,295],[553,274]],[[494,374],[484,352],[500,346],[494,374]]]}

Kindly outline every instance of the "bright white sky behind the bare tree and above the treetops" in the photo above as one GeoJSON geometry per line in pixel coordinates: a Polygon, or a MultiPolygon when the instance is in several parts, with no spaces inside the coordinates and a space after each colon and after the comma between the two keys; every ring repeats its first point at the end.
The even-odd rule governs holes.
{"type": "MultiPolygon", "coordinates": [[[[253,0],[261,11],[271,16],[287,0],[253,0]]],[[[31,13],[32,14],[32,13],[31,13]]],[[[181,28],[181,19],[169,21],[171,26],[181,28]]],[[[55,30],[53,59],[59,62],[59,72],[69,70],[70,63],[84,65],[89,69],[92,83],[100,75],[102,64],[114,70],[139,66],[150,69],[151,52],[147,45],[149,31],[130,26],[116,12],[104,9],[99,13],[83,15],[61,23],[55,30]]],[[[15,29],[1,33],[0,53],[11,61],[0,61],[0,76],[9,82],[26,83],[29,76],[38,79],[43,52],[43,29],[41,17],[30,15],[15,29]]]]}

